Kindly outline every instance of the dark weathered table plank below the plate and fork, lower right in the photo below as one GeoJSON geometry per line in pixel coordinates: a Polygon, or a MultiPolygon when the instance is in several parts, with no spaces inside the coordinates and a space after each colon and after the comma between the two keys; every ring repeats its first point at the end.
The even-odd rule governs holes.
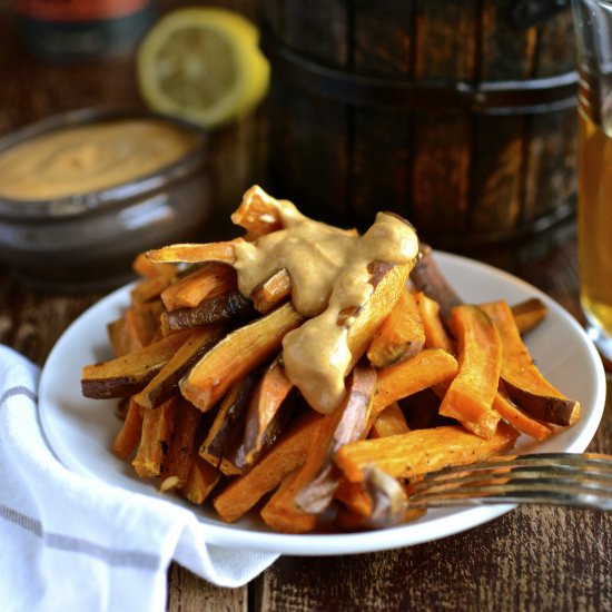
{"type": "Polygon", "coordinates": [[[256,609],[306,611],[326,602],[325,610],[606,610],[612,563],[603,543],[611,537],[612,521],[602,514],[523,506],[428,544],[284,557],[267,572],[256,609]]]}

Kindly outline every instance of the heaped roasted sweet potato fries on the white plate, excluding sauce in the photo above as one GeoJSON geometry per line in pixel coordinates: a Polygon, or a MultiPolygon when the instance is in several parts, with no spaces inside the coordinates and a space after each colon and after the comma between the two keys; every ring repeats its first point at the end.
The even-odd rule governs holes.
{"type": "Polygon", "coordinates": [[[345,397],[313,409],[283,362],[283,338],[306,319],[290,275],[243,295],[234,267],[239,240],[284,229],[278,201],[254,187],[231,218],[246,230],[236,240],[135,260],[141,278],[108,325],[116,357],[82,369],[85,396],[119,398],[113,452],[161,491],[211,502],[227,522],[258,512],[280,532],[388,526],[421,514],[406,487],[424,472],[579,417],[523,343],[545,306],[462,303],[425,245],[414,266],[372,261],[368,303],[338,320],[345,397]]]}

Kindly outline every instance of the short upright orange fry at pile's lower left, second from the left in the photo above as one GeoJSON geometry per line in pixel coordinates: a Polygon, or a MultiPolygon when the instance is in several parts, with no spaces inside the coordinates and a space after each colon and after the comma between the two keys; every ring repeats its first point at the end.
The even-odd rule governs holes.
{"type": "Polygon", "coordinates": [[[180,396],[175,395],[158,408],[144,411],[142,435],[131,462],[134,470],[141,478],[159,476],[175,426],[176,409],[180,402],[180,396]]]}

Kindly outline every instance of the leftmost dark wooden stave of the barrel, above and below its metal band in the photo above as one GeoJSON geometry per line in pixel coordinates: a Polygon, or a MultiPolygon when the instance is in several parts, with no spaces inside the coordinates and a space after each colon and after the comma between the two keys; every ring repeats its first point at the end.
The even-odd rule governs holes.
{"type": "MultiPolygon", "coordinates": [[[[326,65],[346,68],[349,20],[345,1],[265,0],[264,6],[268,19],[276,20],[273,30],[287,46],[326,65]]],[[[273,83],[273,95],[274,90],[273,83]]],[[[290,86],[279,85],[278,93],[282,102],[273,100],[272,105],[270,151],[283,176],[273,177],[273,182],[292,186],[290,197],[300,207],[307,199],[309,215],[340,221],[346,218],[342,210],[347,201],[346,109],[335,100],[290,86]],[[335,213],[332,218],[329,201],[335,213]]]]}

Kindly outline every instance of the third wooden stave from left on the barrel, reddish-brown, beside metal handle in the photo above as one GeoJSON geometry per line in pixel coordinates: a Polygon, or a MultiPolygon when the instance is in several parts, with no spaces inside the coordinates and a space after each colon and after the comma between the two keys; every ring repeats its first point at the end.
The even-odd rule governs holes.
{"type": "MultiPolygon", "coordinates": [[[[431,0],[419,7],[416,80],[473,81],[478,10],[477,0],[431,0]]],[[[472,122],[465,110],[416,116],[412,220],[423,239],[435,243],[434,236],[465,234],[471,158],[472,122]]]]}

